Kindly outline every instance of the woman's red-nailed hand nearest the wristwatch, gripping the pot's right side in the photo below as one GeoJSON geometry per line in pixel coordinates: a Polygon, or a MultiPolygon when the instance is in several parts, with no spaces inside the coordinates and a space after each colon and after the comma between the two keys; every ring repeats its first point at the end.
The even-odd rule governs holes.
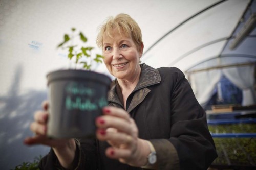
{"type": "Polygon", "coordinates": [[[138,138],[138,128],[129,113],[120,108],[105,107],[103,114],[96,119],[96,136],[111,145],[106,149],[106,156],[131,166],[145,165],[150,148],[146,140],[138,138]]]}

